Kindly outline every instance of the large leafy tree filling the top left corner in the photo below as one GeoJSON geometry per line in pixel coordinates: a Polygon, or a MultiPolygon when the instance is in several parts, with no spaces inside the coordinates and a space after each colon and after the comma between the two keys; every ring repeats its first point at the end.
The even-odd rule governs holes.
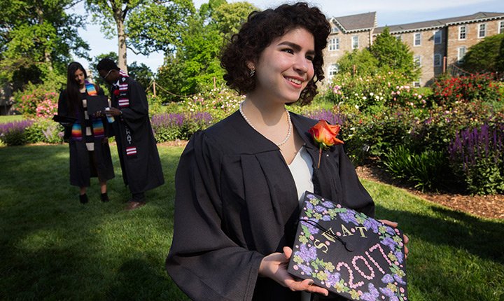
{"type": "Polygon", "coordinates": [[[0,78],[20,89],[28,81],[63,82],[70,52],[87,58],[78,36],[83,19],[67,14],[77,0],[0,1],[0,78]]]}

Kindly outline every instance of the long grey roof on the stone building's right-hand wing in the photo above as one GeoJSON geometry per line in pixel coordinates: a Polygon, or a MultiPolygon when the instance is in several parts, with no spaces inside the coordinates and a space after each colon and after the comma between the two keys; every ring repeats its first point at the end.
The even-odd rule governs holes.
{"type": "MultiPolygon", "coordinates": [[[[391,34],[402,34],[411,31],[421,31],[429,29],[438,29],[449,25],[459,25],[474,22],[484,22],[489,20],[504,19],[504,13],[474,13],[472,15],[464,15],[455,18],[445,18],[431,21],[414,22],[402,25],[388,25],[391,34]]],[[[377,27],[374,29],[374,34],[381,34],[385,27],[377,27]]]]}

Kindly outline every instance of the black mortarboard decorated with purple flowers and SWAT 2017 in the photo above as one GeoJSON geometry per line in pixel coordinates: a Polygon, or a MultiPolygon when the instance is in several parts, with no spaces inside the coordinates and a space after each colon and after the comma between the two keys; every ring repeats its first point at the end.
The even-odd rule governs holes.
{"type": "Polygon", "coordinates": [[[288,272],[349,300],[408,300],[402,232],[304,195],[288,272]]]}

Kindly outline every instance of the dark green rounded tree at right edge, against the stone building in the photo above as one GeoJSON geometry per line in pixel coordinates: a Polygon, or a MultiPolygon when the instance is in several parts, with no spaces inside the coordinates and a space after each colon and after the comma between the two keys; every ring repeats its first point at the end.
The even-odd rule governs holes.
{"type": "Polygon", "coordinates": [[[504,72],[504,33],[487,36],[472,45],[461,68],[472,73],[504,72]]]}

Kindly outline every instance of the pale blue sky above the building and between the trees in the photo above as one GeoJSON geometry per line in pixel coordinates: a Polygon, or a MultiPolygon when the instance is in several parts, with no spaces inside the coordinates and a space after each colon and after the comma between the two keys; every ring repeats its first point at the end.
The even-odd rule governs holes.
{"type": "MultiPolygon", "coordinates": [[[[228,0],[228,2],[237,1],[239,0],[228,0]]],[[[196,8],[207,2],[208,0],[193,0],[196,8]]],[[[252,3],[261,10],[289,2],[292,3],[292,1],[285,0],[248,0],[248,3],[252,3]]],[[[328,18],[374,11],[377,13],[378,26],[472,15],[480,11],[504,13],[503,0],[313,0],[307,2],[320,8],[328,18]]],[[[69,13],[84,15],[83,2],[81,1],[75,8],[71,8],[69,13]]],[[[87,21],[85,29],[78,29],[78,32],[80,37],[90,45],[90,57],[111,51],[117,52],[117,38],[106,39],[100,31],[99,25],[90,23],[90,16],[87,21]]],[[[79,57],[75,59],[85,68],[89,66],[90,62],[86,62],[85,59],[79,57]]],[[[144,56],[135,55],[131,50],[127,50],[128,64],[135,61],[137,64],[146,64],[152,71],[157,71],[163,63],[163,54],[153,52],[144,56]]]]}

